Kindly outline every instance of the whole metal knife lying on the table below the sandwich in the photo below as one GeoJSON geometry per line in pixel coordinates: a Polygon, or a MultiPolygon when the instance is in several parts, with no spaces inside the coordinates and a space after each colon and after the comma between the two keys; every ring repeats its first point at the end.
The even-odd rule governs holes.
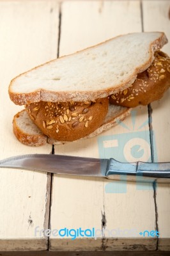
{"type": "Polygon", "coordinates": [[[113,180],[170,183],[170,163],[121,163],[115,159],[27,154],[0,161],[0,168],[50,172],[60,175],[81,175],[113,180]]]}

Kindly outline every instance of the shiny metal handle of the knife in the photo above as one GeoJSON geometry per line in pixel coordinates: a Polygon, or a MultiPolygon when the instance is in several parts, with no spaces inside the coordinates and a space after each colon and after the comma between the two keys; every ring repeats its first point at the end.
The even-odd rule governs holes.
{"type": "Polygon", "coordinates": [[[113,180],[170,183],[170,163],[121,163],[111,158],[105,175],[113,180]]]}

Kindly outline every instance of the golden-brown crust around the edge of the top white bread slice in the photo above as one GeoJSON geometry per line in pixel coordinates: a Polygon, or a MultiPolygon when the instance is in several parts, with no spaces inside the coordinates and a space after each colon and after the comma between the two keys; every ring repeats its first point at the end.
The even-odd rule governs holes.
{"type": "MultiPolygon", "coordinates": [[[[119,37],[119,36],[116,36],[119,37]]],[[[110,39],[112,40],[112,39],[110,39]]],[[[109,41],[109,40],[107,40],[109,41]]],[[[105,42],[107,42],[105,41],[105,42]]],[[[132,72],[132,74],[127,78],[126,81],[124,81],[123,83],[120,83],[118,86],[112,88],[106,88],[103,90],[100,90],[100,88],[98,90],[95,90],[93,92],[52,92],[50,90],[36,90],[35,92],[31,92],[31,93],[15,93],[12,92],[12,86],[13,83],[16,81],[16,79],[20,76],[26,75],[27,72],[24,72],[23,74],[20,74],[20,76],[15,77],[9,86],[9,95],[10,95],[10,99],[17,105],[24,105],[24,104],[30,104],[31,102],[40,102],[40,100],[42,101],[50,101],[50,102],[66,102],[66,101],[84,101],[84,100],[95,100],[95,99],[99,99],[99,98],[104,98],[107,97],[108,95],[114,94],[114,93],[118,93],[120,91],[123,91],[125,89],[127,89],[132,83],[134,83],[137,74],[143,72],[144,70],[146,70],[146,68],[150,67],[153,59],[154,59],[154,52],[157,51],[158,49],[160,49],[164,44],[167,43],[167,38],[166,35],[164,33],[160,33],[160,36],[153,42],[151,42],[150,47],[148,49],[148,51],[150,52],[150,56],[148,58],[148,60],[143,63],[143,65],[141,65],[140,67],[135,68],[135,70],[132,72]]],[[[104,44],[104,42],[100,43],[100,44],[104,44]]],[[[100,45],[98,44],[98,45],[100,45]]],[[[97,45],[93,46],[96,47],[97,45]]],[[[93,47],[89,47],[89,48],[93,48],[93,47]]],[[[85,49],[86,50],[86,49],[85,49]]],[[[84,51],[84,50],[82,50],[84,51]]],[[[81,52],[81,51],[79,51],[81,52]]],[[[70,54],[72,55],[72,54],[70,54]]],[[[61,58],[65,58],[65,56],[61,57],[61,58]]],[[[61,59],[59,58],[59,59],[61,59]]],[[[56,60],[52,60],[52,61],[56,61],[56,60]]],[[[48,61],[47,63],[49,63],[51,61],[48,61]]],[[[43,65],[46,65],[47,63],[44,63],[43,65]]],[[[38,66],[41,67],[42,65],[38,66]]],[[[31,70],[35,70],[36,68],[32,68],[31,70]]],[[[30,70],[29,70],[30,71],[30,70]]],[[[28,72],[29,72],[28,71],[28,72]]]]}

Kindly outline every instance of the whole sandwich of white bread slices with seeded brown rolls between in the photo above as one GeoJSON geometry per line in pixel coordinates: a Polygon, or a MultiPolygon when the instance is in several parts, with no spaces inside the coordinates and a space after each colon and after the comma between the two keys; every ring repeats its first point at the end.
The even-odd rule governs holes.
{"type": "Polygon", "coordinates": [[[166,43],[161,32],[121,35],[15,77],[10,99],[25,107],[15,136],[31,146],[92,138],[160,99],[170,85],[166,43]]]}

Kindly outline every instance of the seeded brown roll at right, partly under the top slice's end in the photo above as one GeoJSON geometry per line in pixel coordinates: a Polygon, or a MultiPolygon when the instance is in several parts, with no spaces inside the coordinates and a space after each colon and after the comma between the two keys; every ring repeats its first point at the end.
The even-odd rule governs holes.
{"type": "Polygon", "coordinates": [[[111,95],[111,104],[134,108],[160,99],[170,86],[170,58],[164,52],[155,52],[151,66],[137,75],[137,79],[123,92],[111,95]]]}

